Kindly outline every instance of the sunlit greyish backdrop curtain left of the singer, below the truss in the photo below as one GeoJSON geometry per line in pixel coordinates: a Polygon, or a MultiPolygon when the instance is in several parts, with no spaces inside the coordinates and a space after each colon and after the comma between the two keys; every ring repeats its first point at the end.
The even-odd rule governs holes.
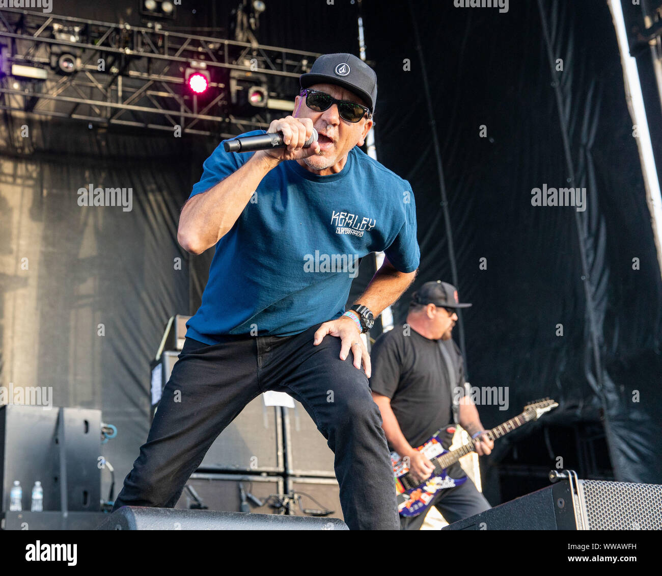
{"type": "MultiPolygon", "coordinates": [[[[0,134],[2,385],[50,386],[55,406],[100,408],[118,428],[103,456],[121,482],[147,437],[164,325],[189,313],[177,221],[205,146],[7,115],[0,134]],[[131,189],[130,211],[79,205],[90,184],[127,199],[131,189]]],[[[105,496],[110,475],[103,482],[105,496]]]]}

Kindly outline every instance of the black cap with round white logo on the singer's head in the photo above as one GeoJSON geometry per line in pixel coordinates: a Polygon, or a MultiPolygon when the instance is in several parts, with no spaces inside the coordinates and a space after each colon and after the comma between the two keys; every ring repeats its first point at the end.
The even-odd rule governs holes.
{"type": "Polygon", "coordinates": [[[313,84],[337,84],[360,96],[375,113],[377,74],[354,54],[323,54],[315,60],[310,72],[299,77],[301,88],[313,84]]]}

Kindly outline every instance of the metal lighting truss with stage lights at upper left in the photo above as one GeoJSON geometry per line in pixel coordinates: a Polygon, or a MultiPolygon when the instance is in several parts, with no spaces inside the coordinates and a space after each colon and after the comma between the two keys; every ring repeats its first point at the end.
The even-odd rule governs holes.
{"type": "MultiPolygon", "coordinates": [[[[265,75],[276,98],[293,98],[296,80],[320,54],[134,27],[38,11],[0,11],[0,44],[7,75],[0,81],[0,109],[128,127],[230,138],[265,129],[269,111],[236,117],[230,103],[230,71],[265,75]],[[53,66],[71,54],[77,70],[66,75],[53,66]],[[191,61],[205,62],[212,74],[201,99],[184,86],[191,61]],[[100,71],[100,62],[104,70],[100,71]],[[38,66],[46,80],[9,75],[11,64],[38,66]]],[[[234,73],[236,74],[236,72],[234,73]]],[[[257,84],[257,82],[256,82],[257,84]]],[[[280,113],[282,115],[282,112],[280,113]]]]}

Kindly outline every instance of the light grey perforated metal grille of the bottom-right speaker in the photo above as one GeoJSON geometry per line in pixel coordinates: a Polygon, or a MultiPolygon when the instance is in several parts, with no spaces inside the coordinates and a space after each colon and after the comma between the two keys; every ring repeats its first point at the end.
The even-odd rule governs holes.
{"type": "Polygon", "coordinates": [[[662,485],[580,480],[589,530],[661,530],[662,485]]]}

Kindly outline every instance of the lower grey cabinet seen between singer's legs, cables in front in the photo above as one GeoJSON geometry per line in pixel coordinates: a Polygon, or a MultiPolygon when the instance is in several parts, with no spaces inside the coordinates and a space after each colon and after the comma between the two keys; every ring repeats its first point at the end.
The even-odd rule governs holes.
{"type": "Polygon", "coordinates": [[[266,500],[271,494],[283,494],[283,479],[280,476],[236,475],[236,474],[199,474],[191,475],[186,483],[193,493],[184,489],[175,508],[188,510],[197,508],[198,498],[207,510],[223,512],[241,512],[242,499],[240,489],[248,496],[254,496],[263,506],[257,506],[251,498],[247,498],[251,512],[271,514],[275,512],[266,500]]]}

